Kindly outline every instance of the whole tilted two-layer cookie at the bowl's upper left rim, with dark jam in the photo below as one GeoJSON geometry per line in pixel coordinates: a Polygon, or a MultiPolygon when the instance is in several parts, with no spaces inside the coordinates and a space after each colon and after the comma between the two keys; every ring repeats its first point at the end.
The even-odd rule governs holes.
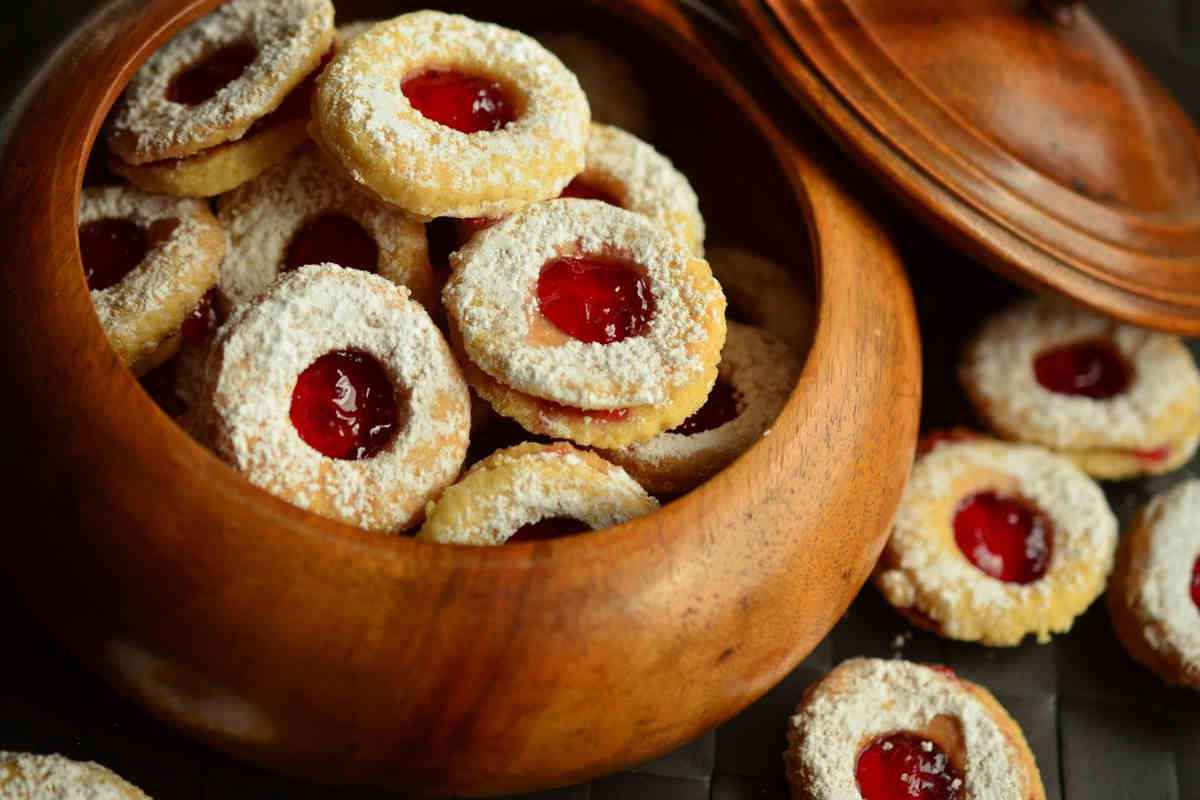
{"type": "Polygon", "coordinates": [[[214,197],[307,138],[316,74],[332,55],[329,0],[232,0],[137,72],[108,133],[110,168],[151,192],[214,197]]]}

